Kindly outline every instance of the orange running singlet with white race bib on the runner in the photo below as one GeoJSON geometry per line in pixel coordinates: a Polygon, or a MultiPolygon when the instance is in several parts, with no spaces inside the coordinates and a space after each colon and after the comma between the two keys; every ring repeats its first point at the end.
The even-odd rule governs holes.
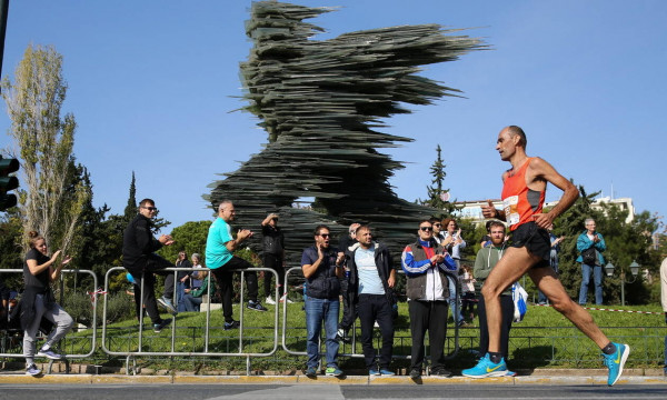
{"type": "Polygon", "coordinates": [[[545,203],[545,191],[536,191],[526,184],[526,170],[532,157],[515,172],[508,176],[502,186],[502,209],[509,230],[517,229],[520,224],[532,221],[532,216],[540,213],[545,203]]]}

